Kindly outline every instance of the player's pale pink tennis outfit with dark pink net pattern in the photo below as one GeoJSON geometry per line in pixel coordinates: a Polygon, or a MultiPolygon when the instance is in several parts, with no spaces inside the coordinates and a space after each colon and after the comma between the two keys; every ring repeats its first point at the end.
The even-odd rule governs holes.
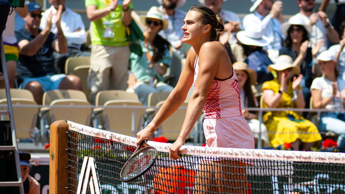
{"type": "MultiPolygon", "coordinates": [[[[194,87],[199,57],[194,65],[194,87]]],[[[242,116],[241,97],[235,71],[227,79],[214,78],[204,106],[204,134],[208,147],[254,149],[254,137],[242,116]]]]}

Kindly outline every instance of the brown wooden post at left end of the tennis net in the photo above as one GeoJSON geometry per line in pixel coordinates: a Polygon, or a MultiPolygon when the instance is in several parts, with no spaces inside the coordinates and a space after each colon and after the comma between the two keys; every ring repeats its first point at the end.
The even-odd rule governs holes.
{"type": "Polygon", "coordinates": [[[49,193],[68,192],[68,125],[58,120],[50,125],[49,193]]]}

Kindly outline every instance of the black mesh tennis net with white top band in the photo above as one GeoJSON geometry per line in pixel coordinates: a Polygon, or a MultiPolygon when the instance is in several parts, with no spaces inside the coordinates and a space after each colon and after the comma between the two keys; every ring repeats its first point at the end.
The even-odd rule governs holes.
{"type": "Polygon", "coordinates": [[[68,122],[70,193],[345,194],[345,154],[182,146],[169,158],[167,143],[155,165],[133,182],[120,171],[136,138],[68,122]],[[90,177],[90,178],[88,178],[90,177]]]}

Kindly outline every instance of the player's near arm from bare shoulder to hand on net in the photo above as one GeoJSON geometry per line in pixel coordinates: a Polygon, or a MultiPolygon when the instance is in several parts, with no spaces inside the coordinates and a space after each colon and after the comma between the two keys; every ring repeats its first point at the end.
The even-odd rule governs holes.
{"type": "Polygon", "coordinates": [[[216,42],[206,42],[199,52],[199,72],[194,91],[189,99],[186,117],[182,125],[179,137],[169,148],[169,156],[178,159],[178,150],[185,144],[186,138],[198,120],[203,110],[208,91],[216,76],[220,61],[220,45],[216,42]]]}

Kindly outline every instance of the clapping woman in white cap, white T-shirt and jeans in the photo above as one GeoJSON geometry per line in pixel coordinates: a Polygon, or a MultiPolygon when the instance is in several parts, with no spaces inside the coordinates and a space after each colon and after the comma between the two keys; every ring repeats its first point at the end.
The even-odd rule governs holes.
{"type": "MultiPolygon", "coordinates": [[[[345,80],[339,76],[336,58],[326,50],[317,57],[322,77],[314,79],[311,86],[313,107],[326,109],[344,109],[345,80]]],[[[338,134],[338,146],[345,152],[345,116],[344,113],[323,112],[319,115],[318,129],[321,132],[331,131],[338,134]]]]}

